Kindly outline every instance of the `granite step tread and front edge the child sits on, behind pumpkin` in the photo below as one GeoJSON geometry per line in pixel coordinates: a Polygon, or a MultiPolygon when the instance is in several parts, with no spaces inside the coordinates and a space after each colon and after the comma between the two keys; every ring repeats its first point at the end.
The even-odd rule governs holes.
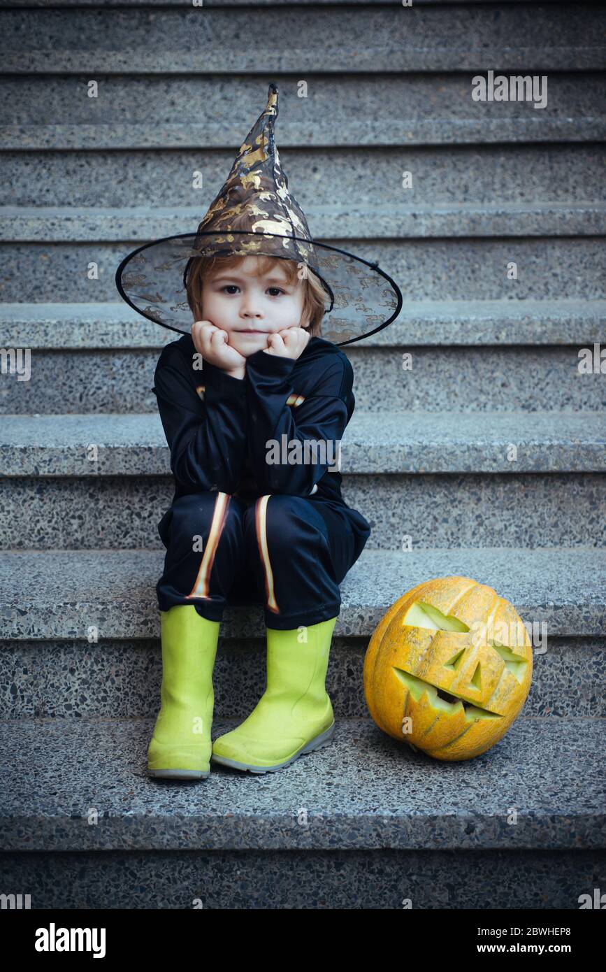
{"type": "MultiPolygon", "coordinates": [[[[163,560],[155,550],[5,551],[0,640],[158,638],[155,584],[163,560]]],[[[603,637],[606,630],[603,549],[365,549],[341,584],[334,636],[369,637],[402,594],[422,579],[451,575],[493,587],[532,631],[547,630],[550,638],[603,637]]],[[[264,634],[260,606],[226,608],[223,638],[264,634]]]]}

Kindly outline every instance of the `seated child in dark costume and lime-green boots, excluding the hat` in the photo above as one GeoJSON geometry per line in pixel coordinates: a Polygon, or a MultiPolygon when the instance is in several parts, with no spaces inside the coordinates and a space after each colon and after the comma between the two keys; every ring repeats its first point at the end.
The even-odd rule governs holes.
{"type": "Polygon", "coordinates": [[[230,593],[230,603],[263,595],[267,688],[245,722],[215,740],[213,761],[266,772],[330,741],[324,680],[338,585],[370,534],[342,500],[341,474],[328,471],[354,410],[353,369],[310,335],[313,285],[297,278],[296,264],[267,257],[201,259],[196,271],[200,319],[164,348],[154,378],[177,482],[160,524],[164,713],[149,754],[158,776],[208,773],[212,670],[230,593]],[[266,443],[280,446],[282,435],[288,448],[323,442],[327,462],[272,465],[266,443]],[[194,723],[201,734],[191,741],[194,723]]]}

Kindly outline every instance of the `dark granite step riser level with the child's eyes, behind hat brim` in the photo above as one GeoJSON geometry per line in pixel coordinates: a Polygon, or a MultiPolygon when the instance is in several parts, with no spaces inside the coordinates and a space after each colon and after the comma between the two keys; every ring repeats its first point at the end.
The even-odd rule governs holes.
{"type": "MultiPolygon", "coordinates": [[[[444,301],[445,296],[472,304],[606,298],[606,247],[600,236],[393,240],[346,236],[319,240],[316,234],[316,239],[363,260],[378,261],[398,283],[405,308],[410,301],[444,301]],[[512,261],[519,269],[517,280],[507,279],[507,265],[512,261]]],[[[3,301],[18,303],[23,296],[44,303],[116,301],[116,270],[138,243],[124,239],[119,244],[87,240],[0,245],[5,268],[3,301]],[[98,267],[97,280],[88,279],[89,263],[98,267]],[[23,281],[27,281],[25,289],[23,281]]],[[[138,317],[132,311],[132,320],[138,317]]],[[[405,313],[401,317],[406,320],[405,313]]]]}

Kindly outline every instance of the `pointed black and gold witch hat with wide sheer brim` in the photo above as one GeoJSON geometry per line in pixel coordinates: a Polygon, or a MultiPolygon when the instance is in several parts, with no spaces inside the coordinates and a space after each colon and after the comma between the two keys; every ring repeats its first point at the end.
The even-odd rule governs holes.
{"type": "Polygon", "coordinates": [[[378,263],[312,239],[276,147],[278,87],[235,158],[195,233],[166,236],[128,254],[118,266],[118,293],[139,314],[190,333],[186,284],[200,257],[269,256],[295,260],[315,273],[325,293],[321,336],[351,344],[387,328],[402,306],[397,284],[378,263]],[[237,226],[237,228],[235,228],[237,226]]]}

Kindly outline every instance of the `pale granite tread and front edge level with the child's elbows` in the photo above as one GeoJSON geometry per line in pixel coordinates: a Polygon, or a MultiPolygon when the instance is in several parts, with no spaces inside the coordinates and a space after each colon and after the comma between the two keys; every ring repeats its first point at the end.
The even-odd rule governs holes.
{"type": "MultiPolygon", "coordinates": [[[[5,417],[4,476],[170,474],[157,412],[5,417]],[[96,451],[90,449],[96,446],[96,451]]],[[[355,411],[341,472],[604,471],[603,412],[355,411]],[[514,449],[516,451],[514,451],[514,449]]]]}

